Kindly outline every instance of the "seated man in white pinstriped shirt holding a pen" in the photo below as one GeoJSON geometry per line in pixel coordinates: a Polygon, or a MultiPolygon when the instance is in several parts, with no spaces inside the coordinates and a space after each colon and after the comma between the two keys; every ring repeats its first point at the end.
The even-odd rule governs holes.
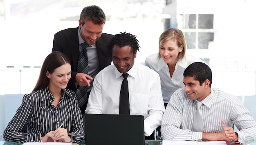
{"type": "Polygon", "coordinates": [[[208,65],[192,63],[183,76],[185,87],[173,93],[162,119],[163,140],[243,143],[256,139],[256,121],[242,102],[234,95],[211,89],[212,73],[208,65]],[[203,104],[202,132],[193,131],[196,101],[203,104]],[[233,130],[233,124],[239,132],[233,130]]]}

